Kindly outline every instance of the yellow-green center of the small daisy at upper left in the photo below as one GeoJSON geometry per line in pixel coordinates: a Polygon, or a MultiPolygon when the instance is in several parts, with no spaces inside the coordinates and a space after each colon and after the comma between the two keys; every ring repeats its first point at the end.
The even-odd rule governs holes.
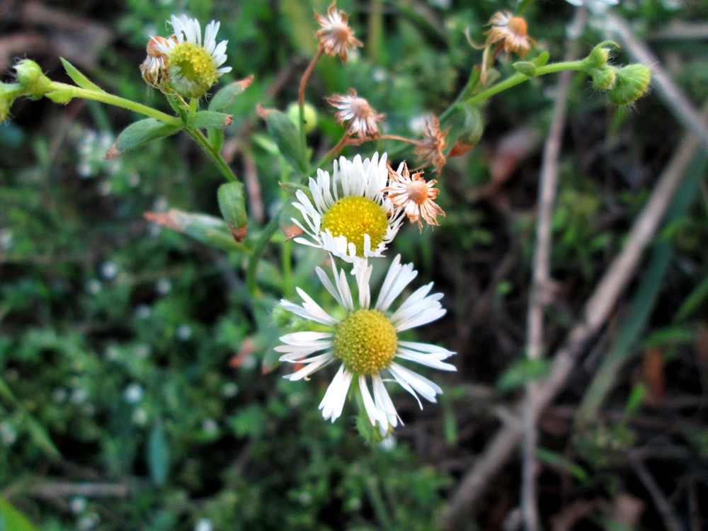
{"type": "Polygon", "coordinates": [[[190,42],[180,42],[171,48],[169,67],[173,89],[188,98],[201,98],[219,78],[214,58],[207,49],[190,42]]]}

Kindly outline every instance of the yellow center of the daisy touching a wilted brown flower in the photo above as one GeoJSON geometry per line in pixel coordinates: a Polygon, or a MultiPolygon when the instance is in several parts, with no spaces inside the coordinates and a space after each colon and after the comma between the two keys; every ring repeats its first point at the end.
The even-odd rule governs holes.
{"type": "Polygon", "coordinates": [[[360,258],[364,258],[364,234],[371,238],[373,250],[384,241],[387,228],[388,219],[381,205],[358,196],[341,198],[322,218],[322,229],[329,229],[333,236],[344,236],[356,246],[360,258]]]}

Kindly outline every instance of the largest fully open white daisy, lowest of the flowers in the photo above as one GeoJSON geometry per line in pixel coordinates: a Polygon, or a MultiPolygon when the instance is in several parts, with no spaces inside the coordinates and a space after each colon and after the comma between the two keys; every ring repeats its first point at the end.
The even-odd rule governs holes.
{"type": "Polygon", "coordinates": [[[454,352],[428,343],[399,340],[400,332],[445,315],[445,309],[439,302],[442,293],[428,295],[433,287],[433,282],[430,282],[414,291],[394,312],[390,312],[394,299],[418,275],[412,263],[401,265],[401,256],[396,256],[373,306],[369,290],[371,265],[360,268],[356,274],[358,304],[355,304],[352,297],[347,275],[343,270],[337,270],[334,264],[332,269],[334,283],[321,268],[316,268],[316,273],[322,285],[346,312],[344,316],[325,312],[298,287],[297,292],[303,304],[283,300],[282,307],[304,319],[331,326],[333,331],[289,333],[280,338],[285,344],[275,350],[283,353],[280,361],[304,365],[285,377],[290,380],[307,379],[321,367],[340,360],[341,366],[319,404],[322,416],[332,422],[336,421],[342,414],[349,387],[354,384],[355,393],[360,397],[367,418],[372,426],[378,424],[381,434],[385,436],[401,419],[384,386],[384,373],[387,372],[401,387],[415,396],[422,409],[418,394],[435,402],[435,395],[442,393],[442,389],[426,377],[401,365],[399,361],[416,362],[440,370],[456,370],[453,365],[442,361],[454,355],[454,352]],[[369,380],[372,383],[373,398],[369,380]]]}

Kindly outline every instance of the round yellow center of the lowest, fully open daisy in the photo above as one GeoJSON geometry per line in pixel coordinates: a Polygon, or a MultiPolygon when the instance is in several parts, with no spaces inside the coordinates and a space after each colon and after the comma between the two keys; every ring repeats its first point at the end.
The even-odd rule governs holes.
{"type": "Polygon", "coordinates": [[[334,333],[334,355],[358,375],[375,375],[388,367],[397,346],[396,329],[378,310],[350,313],[334,333]]]}

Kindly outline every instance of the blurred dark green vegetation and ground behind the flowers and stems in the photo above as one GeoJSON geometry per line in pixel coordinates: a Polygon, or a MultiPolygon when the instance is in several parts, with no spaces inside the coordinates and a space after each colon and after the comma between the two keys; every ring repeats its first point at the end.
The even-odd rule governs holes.
{"type": "MultiPolygon", "coordinates": [[[[347,67],[319,62],[307,91],[319,109],[309,144],[324,154],[338,141],[341,127],[323,98],[350,87],[387,114],[387,132],[416,135],[479,63],[464,30],[484,42],[490,16],[515,5],[338,2],[365,47],[347,67]]],[[[258,234],[287,198],[256,105],[285,109],[297,99],[316,51],[312,10],[327,6],[6,0],[0,64],[8,74],[13,57],[28,57],[68,81],[63,56],[106,90],[169,111],[139,74],[149,35],[165,34],[172,13],[202,26],[221,21],[234,68],[222,84],[255,76],[230,110],[225,153],[249,190],[249,232],[258,234]]],[[[564,55],[574,9],[538,0],[525,13],[552,59],[564,55]]],[[[614,9],[697,107],[708,100],[703,1],[627,0],[614,9]]],[[[582,53],[601,40],[602,28],[591,24],[582,53]]],[[[506,59],[498,69],[513,72],[506,59]]],[[[442,227],[421,235],[406,226],[389,251],[416,263],[421,285],[434,280],[445,292],[447,316],[419,335],[456,350],[458,372],[436,375],[445,394],[423,411],[397,392],[406,426],[379,447],[358,438],[352,418],[322,420],[316,407],[329,375],[292,383],[274,364],[281,331],[271,312],[294,288],[278,273],[281,256],[295,254],[295,285],[311,292],[319,255],[278,236],[282,245],[267,249],[259,270],[263,297],[251,303],[245,251],[226,242],[214,249],[143,217],[168,208],[219,215],[222,177],[188,137],[105,161],[135,116],[84,101],[18,101],[0,126],[0,529],[32,528],[15,511],[56,531],[435,529],[460,477],[513,411],[519,386],[544,371],[518,362],[556,82],[534,79],[493,98],[483,139],[439,178],[442,227]]],[[[655,94],[616,108],[584,76],[573,79],[553,219],[549,352],[621,248],[681,134],[655,94]]],[[[548,529],[708,526],[704,156],[690,166],[646,271],[542,416],[539,496],[548,529]],[[604,374],[603,358],[618,352],[622,370],[578,426],[578,403],[604,374]]],[[[404,158],[413,156],[394,160],[404,158]]],[[[514,529],[519,481],[518,461],[509,462],[462,528],[514,529]]]]}

